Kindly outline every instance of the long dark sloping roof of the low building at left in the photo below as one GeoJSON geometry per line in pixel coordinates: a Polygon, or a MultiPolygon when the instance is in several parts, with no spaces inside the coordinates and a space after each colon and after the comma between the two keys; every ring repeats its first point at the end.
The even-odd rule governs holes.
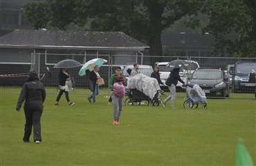
{"type": "Polygon", "coordinates": [[[123,32],[15,30],[0,37],[2,48],[145,50],[148,45],[123,32]]]}

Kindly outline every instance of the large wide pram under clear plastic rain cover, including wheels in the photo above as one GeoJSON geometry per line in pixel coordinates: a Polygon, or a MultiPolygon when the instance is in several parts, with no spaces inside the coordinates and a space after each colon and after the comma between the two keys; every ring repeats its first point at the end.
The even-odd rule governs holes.
{"type": "Polygon", "coordinates": [[[161,103],[161,88],[158,81],[144,74],[136,74],[127,80],[126,105],[140,105],[146,101],[149,106],[161,103]]]}

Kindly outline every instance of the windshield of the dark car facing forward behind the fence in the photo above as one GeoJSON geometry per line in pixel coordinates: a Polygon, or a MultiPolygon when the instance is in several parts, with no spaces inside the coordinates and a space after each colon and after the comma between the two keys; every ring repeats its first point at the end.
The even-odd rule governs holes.
{"type": "Polygon", "coordinates": [[[222,72],[218,70],[196,70],[192,79],[222,79],[222,72]]]}

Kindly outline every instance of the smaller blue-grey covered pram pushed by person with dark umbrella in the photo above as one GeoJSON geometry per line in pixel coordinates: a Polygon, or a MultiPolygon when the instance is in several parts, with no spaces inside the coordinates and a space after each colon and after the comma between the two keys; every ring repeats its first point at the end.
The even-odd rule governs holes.
{"type": "Polygon", "coordinates": [[[203,105],[202,108],[207,108],[207,100],[205,92],[197,84],[188,83],[186,87],[186,100],[183,103],[184,108],[197,108],[203,105]]]}

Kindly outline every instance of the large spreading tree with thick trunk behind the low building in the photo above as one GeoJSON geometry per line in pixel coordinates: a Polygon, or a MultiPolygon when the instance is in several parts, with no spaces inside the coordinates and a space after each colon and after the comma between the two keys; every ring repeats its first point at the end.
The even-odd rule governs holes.
{"type": "MultiPolygon", "coordinates": [[[[201,0],[45,0],[39,4],[46,6],[42,9],[47,11],[51,25],[61,30],[69,23],[84,26],[90,18],[91,30],[125,32],[147,43],[150,55],[162,55],[161,32],[181,17],[196,15],[202,3],[201,0]]],[[[31,21],[33,12],[25,14],[31,21]]],[[[40,21],[43,23],[33,23],[35,28],[47,24],[46,20],[40,21]]]]}

